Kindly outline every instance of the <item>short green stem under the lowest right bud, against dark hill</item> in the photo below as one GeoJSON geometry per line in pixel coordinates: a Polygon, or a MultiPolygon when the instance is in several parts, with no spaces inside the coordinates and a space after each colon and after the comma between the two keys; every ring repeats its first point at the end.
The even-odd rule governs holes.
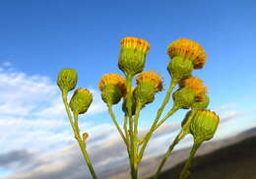
{"type": "Polygon", "coordinates": [[[199,141],[194,140],[194,145],[190,151],[189,158],[181,171],[179,179],[186,179],[189,176],[189,174],[190,174],[189,170],[192,165],[193,157],[196,154],[197,149],[199,149],[199,147],[201,146],[201,144],[202,144],[201,141],[199,142],[199,141]]]}

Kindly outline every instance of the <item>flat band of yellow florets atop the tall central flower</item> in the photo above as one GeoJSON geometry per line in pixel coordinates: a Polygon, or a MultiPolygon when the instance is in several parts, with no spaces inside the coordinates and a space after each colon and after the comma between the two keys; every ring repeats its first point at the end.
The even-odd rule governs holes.
{"type": "Polygon", "coordinates": [[[121,47],[130,47],[147,53],[150,50],[150,43],[142,38],[128,36],[121,39],[121,47]]]}

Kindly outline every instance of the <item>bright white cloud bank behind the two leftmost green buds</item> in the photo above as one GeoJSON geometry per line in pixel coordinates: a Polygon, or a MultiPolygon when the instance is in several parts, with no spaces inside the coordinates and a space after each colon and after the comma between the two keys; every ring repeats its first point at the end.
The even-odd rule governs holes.
{"type": "MultiPolygon", "coordinates": [[[[12,149],[61,149],[73,142],[55,82],[43,76],[10,71],[11,68],[11,63],[5,62],[0,71],[1,152],[12,149]]],[[[96,89],[92,92],[94,101],[88,115],[105,110],[99,92],[96,89]]],[[[83,124],[83,127],[88,125],[91,124],[83,124]]]]}

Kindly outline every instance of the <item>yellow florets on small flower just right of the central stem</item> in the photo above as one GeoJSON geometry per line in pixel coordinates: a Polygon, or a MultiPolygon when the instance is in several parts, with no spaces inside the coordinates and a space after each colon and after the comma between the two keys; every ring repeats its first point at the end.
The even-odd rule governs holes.
{"type": "Polygon", "coordinates": [[[155,85],[155,91],[158,92],[162,89],[162,82],[159,74],[155,74],[154,71],[143,72],[136,77],[137,85],[143,82],[150,82],[155,85]]]}

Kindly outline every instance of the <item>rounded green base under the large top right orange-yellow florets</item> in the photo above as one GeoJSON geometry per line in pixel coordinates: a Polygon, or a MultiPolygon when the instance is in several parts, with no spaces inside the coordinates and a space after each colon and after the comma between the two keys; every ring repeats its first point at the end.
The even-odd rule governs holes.
{"type": "Polygon", "coordinates": [[[183,56],[174,56],[170,60],[167,70],[171,78],[174,81],[179,82],[191,76],[193,63],[191,60],[185,59],[183,56]]]}

